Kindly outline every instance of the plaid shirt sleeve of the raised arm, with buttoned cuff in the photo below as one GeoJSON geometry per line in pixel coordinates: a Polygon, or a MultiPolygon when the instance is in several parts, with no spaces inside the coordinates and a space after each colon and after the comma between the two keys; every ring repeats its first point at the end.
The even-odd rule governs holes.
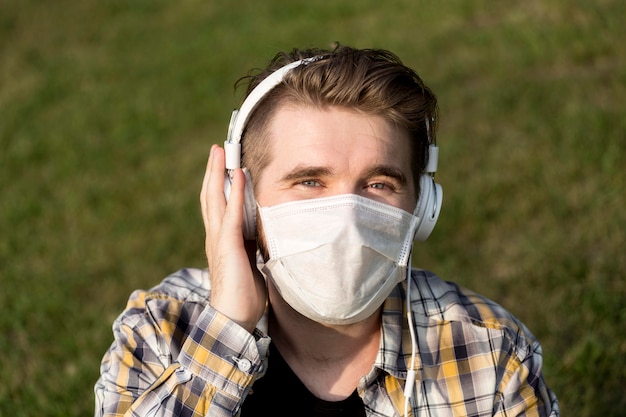
{"type": "Polygon", "coordinates": [[[269,338],[208,304],[137,292],[113,325],[95,415],[232,416],[265,368],[269,338]]]}

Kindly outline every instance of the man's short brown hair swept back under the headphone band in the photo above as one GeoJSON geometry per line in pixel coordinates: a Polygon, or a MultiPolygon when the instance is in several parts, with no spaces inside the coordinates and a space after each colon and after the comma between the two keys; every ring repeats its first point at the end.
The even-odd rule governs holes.
{"type": "Polygon", "coordinates": [[[415,71],[404,66],[393,53],[347,46],[333,50],[294,49],[276,55],[265,70],[242,78],[238,84],[248,81],[249,94],[282,66],[317,56],[321,58],[289,71],[251,113],[242,135],[242,165],[249,169],[253,180],[270,162],[268,125],[281,106],[339,106],[382,116],[409,132],[413,140],[413,176],[419,195],[417,179],[428,162],[429,135],[431,141],[435,138],[437,99],[415,71]]]}

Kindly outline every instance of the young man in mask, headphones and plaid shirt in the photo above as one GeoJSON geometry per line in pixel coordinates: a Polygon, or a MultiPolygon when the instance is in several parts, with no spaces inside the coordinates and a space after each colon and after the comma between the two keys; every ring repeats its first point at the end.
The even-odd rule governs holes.
{"type": "Polygon", "coordinates": [[[252,77],[202,187],[208,271],[131,296],[96,415],[558,416],[526,327],[410,268],[441,207],[436,111],[387,51],[252,77]]]}

